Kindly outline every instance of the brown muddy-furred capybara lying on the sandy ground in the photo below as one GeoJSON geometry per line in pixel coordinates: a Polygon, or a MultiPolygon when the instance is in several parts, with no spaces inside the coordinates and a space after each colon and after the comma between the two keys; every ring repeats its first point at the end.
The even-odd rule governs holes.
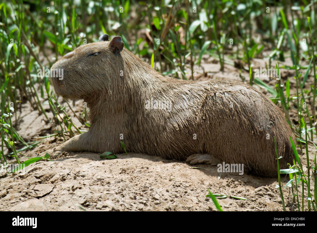
{"type": "Polygon", "coordinates": [[[124,48],[120,36],[81,45],[55,62],[63,79],[52,78],[55,92],[87,102],[91,127],[50,150],[146,153],[184,160],[210,154],[249,172],[277,177],[293,162],[284,115],[266,95],[232,80],[190,81],[165,77],[124,48]]]}

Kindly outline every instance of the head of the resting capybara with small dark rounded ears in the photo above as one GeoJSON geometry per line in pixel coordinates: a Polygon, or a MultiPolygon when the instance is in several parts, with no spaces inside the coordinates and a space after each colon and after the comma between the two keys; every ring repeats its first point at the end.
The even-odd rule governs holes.
{"type": "MultiPolygon", "coordinates": [[[[64,55],[51,68],[51,73],[62,69],[62,77],[52,77],[56,94],[70,99],[86,99],[108,90],[111,79],[120,77],[124,47],[120,36],[109,42],[109,36],[100,36],[98,42],[81,45],[64,55]]],[[[54,76],[54,75],[53,75],[54,76]]]]}

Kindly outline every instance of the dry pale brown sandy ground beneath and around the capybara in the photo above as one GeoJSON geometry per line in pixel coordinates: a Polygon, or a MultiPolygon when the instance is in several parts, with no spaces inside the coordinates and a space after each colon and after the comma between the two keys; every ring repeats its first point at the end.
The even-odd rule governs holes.
{"type": "MultiPolygon", "coordinates": [[[[254,62],[261,63],[261,61],[254,62]]],[[[197,68],[201,74],[204,74],[197,77],[198,79],[241,80],[237,75],[238,69],[232,66],[226,65],[225,73],[211,72],[211,70],[219,70],[219,64],[215,61],[206,61],[203,67],[204,71],[202,68],[197,68]]],[[[248,77],[247,73],[244,75],[248,77]]],[[[284,78],[288,76],[285,72],[282,73],[282,78],[283,75],[284,78]]],[[[292,86],[294,87],[293,81],[291,81],[292,86]]],[[[61,97],[58,100],[61,102],[61,97]]],[[[44,108],[51,117],[49,106],[46,104],[44,108]]],[[[74,111],[79,115],[82,110],[81,102],[77,101],[74,111]]],[[[81,125],[69,109],[67,113],[72,116],[76,126],[81,125]]],[[[24,103],[16,114],[16,129],[27,142],[36,141],[37,137],[53,133],[58,129],[53,123],[47,122],[43,115],[39,116],[37,111],[32,110],[28,102],[24,103]]],[[[291,117],[295,118],[296,114],[292,113],[291,117]]],[[[84,126],[80,128],[87,130],[84,126]]],[[[61,139],[50,138],[39,144],[36,149],[24,152],[24,155],[37,156],[60,143],[62,143],[61,139]]],[[[315,151],[314,147],[309,145],[311,163],[315,151]]],[[[22,161],[26,159],[21,157],[22,161]]],[[[301,161],[305,167],[305,154],[301,155],[301,161]]],[[[212,193],[246,198],[246,200],[230,197],[217,199],[223,210],[283,210],[279,191],[276,188],[277,178],[261,178],[248,174],[218,174],[216,165],[196,166],[203,169],[192,169],[191,165],[184,161],[165,160],[146,154],[119,154],[117,159],[102,160],[99,154],[71,153],[70,156],[54,161],[39,161],[31,164],[26,167],[24,173],[1,173],[0,210],[215,211],[215,205],[209,197],[206,197],[207,189],[212,193]]],[[[283,187],[288,180],[288,177],[282,178],[283,187]]],[[[301,185],[299,189],[301,190],[301,185]]],[[[286,187],[283,195],[286,209],[296,210],[297,206],[292,203],[290,188],[286,187]]]]}

